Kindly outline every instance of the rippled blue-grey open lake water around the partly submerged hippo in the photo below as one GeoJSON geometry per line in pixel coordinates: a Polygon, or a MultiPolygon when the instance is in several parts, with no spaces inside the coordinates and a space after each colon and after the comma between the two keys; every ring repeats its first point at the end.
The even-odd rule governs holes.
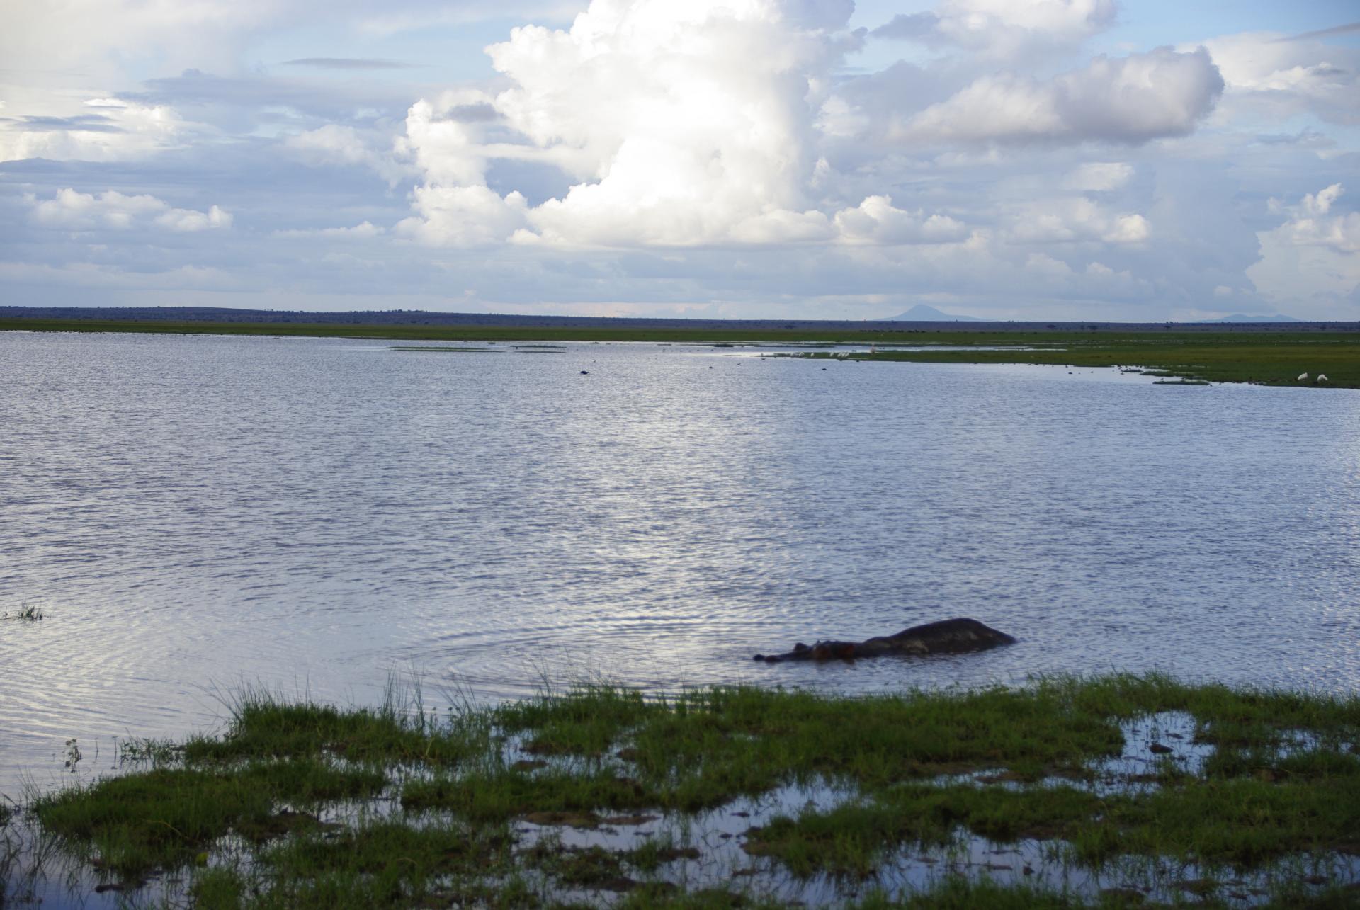
{"type": "Polygon", "coordinates": [[[0,622],[0,793],[256,683],[1360,686],[1360,393],[492,347],[0,333],[0,612],[45,612],[0,622]],[[751,660],[949,616],[1020,642],[751,660]]]}

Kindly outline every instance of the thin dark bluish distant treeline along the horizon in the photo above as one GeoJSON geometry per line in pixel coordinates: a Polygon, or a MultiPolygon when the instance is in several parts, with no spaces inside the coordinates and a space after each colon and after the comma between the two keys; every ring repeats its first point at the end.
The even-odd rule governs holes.
{"type": "Polygon", "coordinates": [[[741,332],[1360,332],[1356,322],[915,322],[865,320],[681,320],[426,310],[243,310],[224,306],[0,306],[0,320],[102,322],[215,322],[393,326],[506,326],[574,329],[694,329],[741,332]]]}

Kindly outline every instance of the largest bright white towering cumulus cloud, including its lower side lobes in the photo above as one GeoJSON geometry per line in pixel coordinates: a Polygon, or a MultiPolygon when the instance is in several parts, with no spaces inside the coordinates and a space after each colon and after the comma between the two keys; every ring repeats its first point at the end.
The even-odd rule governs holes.
{"type": "Polygon", "coordinates": [[[925,243],[948,216],[823,197],[832,75],[860,37],[847,0],[594,0],[570,30],[488,48],[510,86],[411,107],[424,174],[401,233],[428,243],[555,246],[925,243]],[[458,112],[492,110],[464,117],[458,112]],[[537,205],[487,185],[496,159],[575,181],[537,205]]]}

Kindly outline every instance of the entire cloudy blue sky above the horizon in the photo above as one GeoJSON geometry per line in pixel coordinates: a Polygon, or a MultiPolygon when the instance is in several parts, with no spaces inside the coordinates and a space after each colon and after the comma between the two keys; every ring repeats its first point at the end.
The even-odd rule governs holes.
{"type": "Polygon", "coordinates": [[[10,0],[0,305],[1360,318],[1355,0],[10,0]]]}

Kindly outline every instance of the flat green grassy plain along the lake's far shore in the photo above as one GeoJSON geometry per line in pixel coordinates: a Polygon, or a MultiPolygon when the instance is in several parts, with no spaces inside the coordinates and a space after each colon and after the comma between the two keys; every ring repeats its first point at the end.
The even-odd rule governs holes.
{"type": "MultiPolygon", "coordinates": [[[[653,341],[700,344],[911,344],[932,350],[877,350],[854,360],[929,363],[1047,363],[1125,366],[1212,382],[1360,388],[1360,335],[1353,332],[985,332],[985,331],[781,331],[743,328],[600,328],[498,325],[347,325],[307,322],[155,322],[101,320],[0,320],[0,331],[154,332],[384,339],[397,341],[653,341]],[[966,350],[940,350],[963,347],[966,350]],[[1000,348],[1000,350],[987,350],[1000,348]],[[1307,373],[1310,380],[1296,377],[1307,373]]],[[[834,358],[835,352],[808,352],[834,358]]]]}

